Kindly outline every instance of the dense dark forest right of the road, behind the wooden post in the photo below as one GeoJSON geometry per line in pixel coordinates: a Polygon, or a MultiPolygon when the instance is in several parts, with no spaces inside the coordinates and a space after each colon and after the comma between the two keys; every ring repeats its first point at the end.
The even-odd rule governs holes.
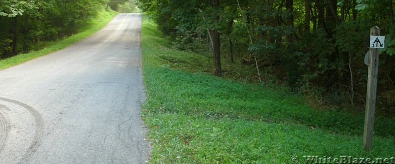
{"type": "Polygon", "coordinates": [[[221,75],[221,62],[250,65],[256,81],[267,83],[269,76],[263,74],[268,72],[316,103],[347,104],[355,110],[364,110],[366,96],[365,38],[378,26],[385,48],[380,51],[377,104],[379,111],[395,114],[394,0],[138,3],[177,48],[208,47],[214,75],[221,75]]]}

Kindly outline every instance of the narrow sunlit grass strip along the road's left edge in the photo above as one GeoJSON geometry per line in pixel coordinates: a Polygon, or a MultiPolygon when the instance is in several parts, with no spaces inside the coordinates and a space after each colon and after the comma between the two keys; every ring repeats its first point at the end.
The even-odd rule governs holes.
{"type": "Polygon", "coordinates": [[[49,53],[61,50],[75,42],[78,42],[89,35],[97,32],[101,28],[103,28],[117,13],[114,11],[102,11],[97,15],[94,19],[88,21],[87,25],[81,29],[81,33],[77,33],[70,37],[67,37],[59,42],[54,42],[51,45],[45,47],[39,51],[32,51],[26,54],[19,54],[7,59],[0,60],[0,70],[21,64],[23,62],[36,59],[38,57],[47,55],[49,53]]]}

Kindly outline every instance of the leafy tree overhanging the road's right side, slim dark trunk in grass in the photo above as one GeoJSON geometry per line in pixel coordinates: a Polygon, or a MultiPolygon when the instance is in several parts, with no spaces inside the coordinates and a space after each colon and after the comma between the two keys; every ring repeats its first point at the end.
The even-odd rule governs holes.
{"type": "Polygon", "coordinates": [[[139,3],[143,11],[154,17],[165,34],[208,31],[213,46],[213,74],[221,75],[220,31],[225,21],[221,19],[224,5],[219,0],[140,0],[139,3]]]}

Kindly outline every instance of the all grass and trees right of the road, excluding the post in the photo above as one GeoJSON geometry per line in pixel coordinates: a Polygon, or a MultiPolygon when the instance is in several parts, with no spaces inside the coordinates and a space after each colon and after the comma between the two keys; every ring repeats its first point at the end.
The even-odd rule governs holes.
{"type": "Polygon", "coordinates": [[[143,29],[152,161],[290,163],[293,155],[394,154],[394,2],[139,0],[157,25],[148,33],[163,37],[145,40],[153,36],[143,29]],[[374,150],[365,152],[364,40],[373,26],[386,40],[374,150]]]}

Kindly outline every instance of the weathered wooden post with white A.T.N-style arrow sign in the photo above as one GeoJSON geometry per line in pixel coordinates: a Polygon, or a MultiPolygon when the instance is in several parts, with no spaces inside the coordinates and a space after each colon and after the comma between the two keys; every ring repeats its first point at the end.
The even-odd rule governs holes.
{"type": "Polygon", "coordinates": [[[380,28],[370,28],[370,49],[368,84],[366,91],[365,125],[363,131],[363,147],[370,151],[372,147],[374,111],[376,107],[377,71],[379,67],[379,49],[384,48],[384,36],[380,35],[380,28]]]}

